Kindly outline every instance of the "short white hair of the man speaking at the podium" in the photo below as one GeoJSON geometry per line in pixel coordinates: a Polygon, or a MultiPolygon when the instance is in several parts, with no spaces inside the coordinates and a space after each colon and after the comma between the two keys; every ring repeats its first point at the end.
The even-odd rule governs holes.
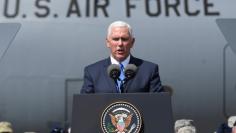
{"type": "Polygon", "coordinates": [[[107,37],[111,34],[111,30],[112,30],[113,27],[127,27],[128,30],[129,30],[130,36],[132,38],[134,37],[132,27],[124,21],[114,21],[114,22],[112,22],[107,28],[107,37]]]}

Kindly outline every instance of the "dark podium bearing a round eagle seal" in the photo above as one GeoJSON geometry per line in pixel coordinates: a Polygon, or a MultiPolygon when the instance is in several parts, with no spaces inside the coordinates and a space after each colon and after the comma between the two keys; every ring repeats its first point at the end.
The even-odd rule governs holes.
{"type": "Polygon", "coordinates": [[[76,94],[72,133],[174,133],[168,93],[76,94]]]}

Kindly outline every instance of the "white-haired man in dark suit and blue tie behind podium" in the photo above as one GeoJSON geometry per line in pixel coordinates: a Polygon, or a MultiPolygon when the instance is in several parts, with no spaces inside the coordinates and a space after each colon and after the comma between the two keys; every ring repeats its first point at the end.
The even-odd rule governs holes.
{"type": "Polygon", "coordinates": [[[138,59],[130,51],[135,42],[132,28],[123,21],[115,21],[108,27],[106,45],[110,49],[109,58],[91,64],[84,69],[84,84],[81,93],[138,93],[161,92],[159,68],[157,64],[138,59]],[[136,74],[127,80],[122,90],[109,77],[107,68],[111,64],[137,66],[136,74]]]}

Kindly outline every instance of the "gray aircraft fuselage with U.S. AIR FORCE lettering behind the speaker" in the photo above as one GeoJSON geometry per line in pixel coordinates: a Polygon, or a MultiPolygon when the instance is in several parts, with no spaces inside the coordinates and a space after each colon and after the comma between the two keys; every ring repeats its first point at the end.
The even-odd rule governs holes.
{"type": "Polygon", "coordinates": [[[172,87],[174,119],[193,119],[199,133],[214,132],[236,114],[235,5],[235,0],[2,0],[0,121],[10,121],[17,133],[46,133],[69,123],[84,67],[109,56],[107,26],[123,20],[133,27],[132,54],[157,63],[162,83],[172,87]],[[15,27],[6,30],[9,23],[15,27]]]}

